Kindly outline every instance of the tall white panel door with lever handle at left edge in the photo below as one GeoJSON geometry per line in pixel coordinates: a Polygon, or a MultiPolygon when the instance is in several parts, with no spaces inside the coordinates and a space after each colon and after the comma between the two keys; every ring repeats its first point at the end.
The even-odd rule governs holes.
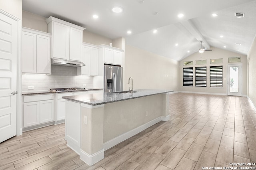
{"type": "Polygon", "coordinates": [[[0,12],[0,142],[17,133],[17,21],[0,12]],[[14,92],[12,95],[12,92],[14,92]]]}

